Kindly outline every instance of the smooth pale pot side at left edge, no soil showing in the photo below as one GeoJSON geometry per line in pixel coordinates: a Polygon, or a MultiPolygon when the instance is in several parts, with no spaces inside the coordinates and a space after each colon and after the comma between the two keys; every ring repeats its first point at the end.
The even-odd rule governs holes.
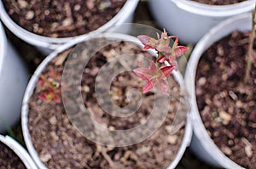
{"type": "Polygon", "coordinates": [[[0,22],[0,132],[20,119],[28,72],[10,45],[0,22]]]}

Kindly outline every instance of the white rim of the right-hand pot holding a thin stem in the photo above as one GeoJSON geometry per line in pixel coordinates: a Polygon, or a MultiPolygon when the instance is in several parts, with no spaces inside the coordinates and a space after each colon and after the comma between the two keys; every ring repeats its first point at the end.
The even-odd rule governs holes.
{"type": "MultiPolygon", "coordinates": [[[[199,59],[201,58],[201,55],[207,50],[207,48],[209,48],[212,45],[212,43],[217,42],[219,39],[221,39],[224,36],[227,36],[232,32],[232,31],[225,31],[226,27],[229,25],[234,25],[235,22],[239,22],[240,20],[251,20],[251,17],[252,17],[251,14],[241,14],[241,15],[232,17],[228,20],[224,20],[220,24],[213,27],[212,30],[209,31],[204,37],[202,37],[201,40],[196,44],[194,51],[190,56],[190,59],[187,65],[187,70],[185,72],[185,77],[184,77],[187,91],[190,94],[190,104],[191,104],[190,114],[191,114],[191,122],[192,122],[192,127],[195,133],[195,136],[199,138],[199,140],[201,141],[201,145],[207,151],[207,153],[212,156],[212,159],[214,159],[215,161],[218,162],[218,164],[226,168],[243,168],[243,167],[239,166],[234,161],[231,161],[229,157],[224,155],[224,153],[220,149],[218,149],[218,146],[214,144],[214,142],[212,141],[212,138],[210,138],[210,136],[208,135],[207,130],[204,127],[204,124],[201,120],[201,115],[197,107],[196,96],[195,96],[195,73],[196,73],[196,68],[197,68],[199,59]],[[220,36],[217,37],[216,35],[218,34],[221,34],[221,37],[220,36]]],[[[248,28],[248,30],[249,29],[250,28],[248,28]]],[[[233,29],[233,31],[236,31],[236,30],[237,30],[236,28],[233,29]]]]}

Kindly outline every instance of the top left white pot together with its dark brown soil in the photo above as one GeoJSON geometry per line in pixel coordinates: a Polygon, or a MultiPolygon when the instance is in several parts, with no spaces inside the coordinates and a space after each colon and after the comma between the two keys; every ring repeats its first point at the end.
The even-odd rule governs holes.
{"type": "Polygon", "coordinates": [[[0,18],[17,37],[49,54],[74,37],[131,22],[137,3],[138,0],[2,0],[0,18]]]}

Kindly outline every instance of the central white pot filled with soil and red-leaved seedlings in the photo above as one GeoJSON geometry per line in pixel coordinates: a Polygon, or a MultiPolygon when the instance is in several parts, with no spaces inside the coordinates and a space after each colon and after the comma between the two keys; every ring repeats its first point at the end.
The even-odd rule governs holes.
{"type": "MultiPolygon", "coordinates": [[[[145,41],[148,43],[144,38],[145,41]]],[[[186,127],[183,123],[188,107],[182,77],[173,72],[163,82],[163,76],[173,70],[172,65],[161,67],[165,73],[154,71],[164,65],[146,59],[155,60],[153,53],[139,47],[142,44],[135,37],[100,34],[85,42],[82,38],[67,43],[38,67],[26,90],[22,129],[27,148],[39,168],[173,168],[177,165],[191,134],[189,121],[186,127]],[[73,48],[76,44],[79,45],[73,48]],[[91,55],[94,57],[90,58],[91,55]],[[148,66],[137,68],[137,61],[148,66]],[[148,93],[142,95],[134,90],[143,83],[134,72],[147,80],[146,76],[160,73],[161,78],[152,78],[150,82],[164,86],[162,92],[171,93],[172,98],[164,93],[148,92],[154,86],[149,81],[143,88],[148,93]],[[160,80],[161,85],[154,80],[160,80]],[[178,111],[176,116],[175,111],[178,111]]]]}

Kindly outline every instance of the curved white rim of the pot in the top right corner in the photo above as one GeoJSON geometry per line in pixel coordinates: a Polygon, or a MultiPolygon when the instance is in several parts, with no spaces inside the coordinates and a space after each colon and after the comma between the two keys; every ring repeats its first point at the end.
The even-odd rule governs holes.
{"type": "Polygon", "coordinates": [[[236,14],[246,13],[253,10],[255,0],[247,0],[241,3],[230,5],[209,5],[204,3],[197,3],[190,0],[169,0],[172,1],[178,8],[193,14],[205,15],[209,17],[229,17],[236,14]]]}

